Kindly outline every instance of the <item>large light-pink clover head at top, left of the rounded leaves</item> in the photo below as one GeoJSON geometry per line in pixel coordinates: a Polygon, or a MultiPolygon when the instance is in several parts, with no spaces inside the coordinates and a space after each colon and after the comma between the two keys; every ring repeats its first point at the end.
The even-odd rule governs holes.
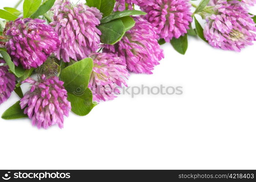
{"type": "Polygon", "coordinates": [[[98,49],[101,31],[96,28],[102,18],[97,8],[82,3],[73,5],[69,0],[59,0],[54,7],[53,26],[60,36],[61,47],[57,58],[69,62],[87,58],[98,49]]]}

